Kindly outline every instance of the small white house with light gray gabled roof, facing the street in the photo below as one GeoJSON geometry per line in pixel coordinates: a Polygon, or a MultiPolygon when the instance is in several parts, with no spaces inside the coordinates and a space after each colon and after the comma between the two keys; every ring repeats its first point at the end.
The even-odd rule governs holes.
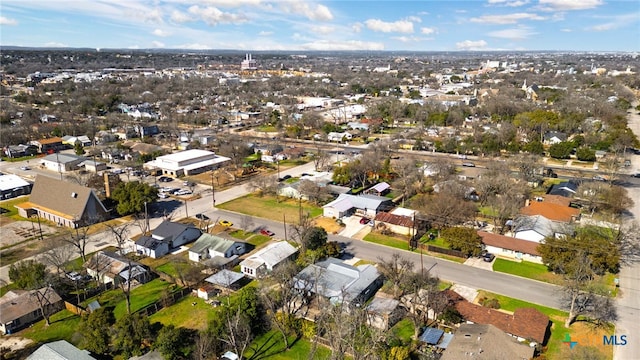
{"type": "Polygon", "coordinates": [[[242,261],[240,269],[249,277],[259,278],[292,259],[297,252],[298,249],[286,241],[273,242],[242,261]]]}

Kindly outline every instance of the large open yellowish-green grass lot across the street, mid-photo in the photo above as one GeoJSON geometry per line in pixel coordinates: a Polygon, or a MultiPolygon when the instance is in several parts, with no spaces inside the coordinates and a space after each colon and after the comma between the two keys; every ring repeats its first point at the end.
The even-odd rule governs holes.
{"type": "MultiPolygon", "coordinates": [[[[283,216],[288,222],[297,221],[300,216],[298,200],[285,199],[283,197],[280,197],[279,200],[279,202],[276,201],[275,196],[258,197],[247,195],[221,204],[218,207],[275,221],[282,221],[283,216]]],[[[302,203],[302,211],[308,212],[312,218],[322,214],[321,207],[307,202],[302,203]]]]}

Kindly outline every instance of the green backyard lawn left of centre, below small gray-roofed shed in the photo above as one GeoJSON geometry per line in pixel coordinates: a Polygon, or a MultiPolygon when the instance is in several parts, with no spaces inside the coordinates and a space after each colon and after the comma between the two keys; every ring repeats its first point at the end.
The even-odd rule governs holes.
{"type": "Polygon", "coordinates": [[[151,315],[149,321],[193,330],[204,330],[216,315],[216,308],[205,303],[204,300],[187,296],[170,307],[151,315]]]}

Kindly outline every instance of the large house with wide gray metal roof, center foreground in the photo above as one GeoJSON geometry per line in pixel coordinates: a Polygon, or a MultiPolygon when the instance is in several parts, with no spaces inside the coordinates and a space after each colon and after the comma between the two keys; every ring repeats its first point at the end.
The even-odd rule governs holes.
{"type": "Polygon", "coordinates": [[[307,266],[293,280],[302,293],[322,297],[332,304],[363,304],[382,286],[382,276],[375,266],[356,267],[335,258],[307,266]]]}

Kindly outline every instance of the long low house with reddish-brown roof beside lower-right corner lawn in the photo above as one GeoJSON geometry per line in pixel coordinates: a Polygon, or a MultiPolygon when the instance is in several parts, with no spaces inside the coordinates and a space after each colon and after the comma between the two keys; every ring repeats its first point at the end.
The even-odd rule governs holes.
{"type": "Polygon", "coordinates": [[[467,322],[493,325],[519,341],[544,344],[547,339],[549,317],[534,308],[520,308],[509,314],[470,303],[455,291],[445,290],[445,294],[467,322]]]}

